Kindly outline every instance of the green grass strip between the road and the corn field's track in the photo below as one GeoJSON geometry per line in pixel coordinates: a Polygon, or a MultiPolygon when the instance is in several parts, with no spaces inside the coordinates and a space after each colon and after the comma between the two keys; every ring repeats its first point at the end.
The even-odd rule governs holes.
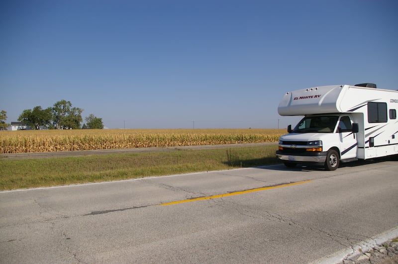
{"type": "Polygon", "coordinates": [[[277,163],[277,145],[52,159],[0,159],[0,190],[256,167],[277,163]]]}

